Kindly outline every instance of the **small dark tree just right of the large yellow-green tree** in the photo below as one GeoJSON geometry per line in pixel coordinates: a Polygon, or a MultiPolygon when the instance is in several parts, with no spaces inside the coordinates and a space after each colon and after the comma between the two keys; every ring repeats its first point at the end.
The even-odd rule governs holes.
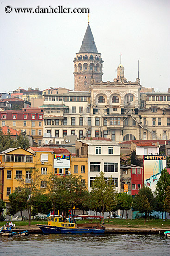
{"type": "MultiPolygon", "coordinates": [[[[126,210],[126,219],[127,219],[127,211],[131,209],[132,206],[132,196],[128,195],[127,193],[119,193],[118,194],[118,205],[119,209],[123,211],[126,210]]],[[[122,213],[122,218],[123,218],[122,213]]]]}

